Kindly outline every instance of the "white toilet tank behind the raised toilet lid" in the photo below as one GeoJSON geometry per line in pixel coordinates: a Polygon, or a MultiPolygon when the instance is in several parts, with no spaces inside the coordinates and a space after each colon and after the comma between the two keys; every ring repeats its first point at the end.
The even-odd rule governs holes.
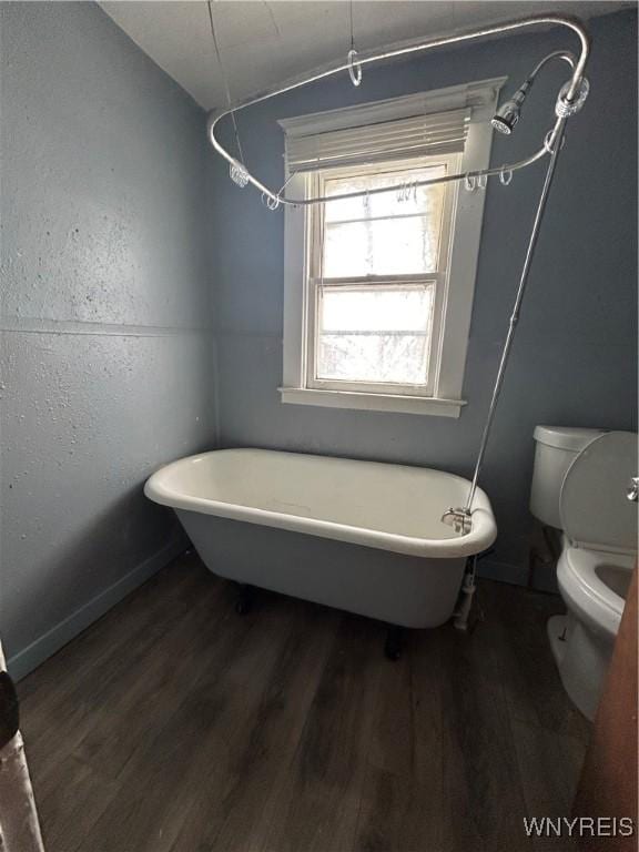
{"type": "Polygon", "coordinates": [[[584,447],[605,429],[580,429],[566,426],[536,426],[530,511],[550,527],[561,529],[559,498],[566,471],[584,447]]]}

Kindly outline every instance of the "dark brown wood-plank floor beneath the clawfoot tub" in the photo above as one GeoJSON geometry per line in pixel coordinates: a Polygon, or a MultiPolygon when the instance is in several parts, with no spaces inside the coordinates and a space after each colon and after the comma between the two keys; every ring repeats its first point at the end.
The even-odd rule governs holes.
{"type": "Polygon", "coordinates": [[[484,581],[471,635],[232,587],[194,554],[19,684],[48,852],[518,852],[569,815],[589,736],[552,596],[484,581]]]}

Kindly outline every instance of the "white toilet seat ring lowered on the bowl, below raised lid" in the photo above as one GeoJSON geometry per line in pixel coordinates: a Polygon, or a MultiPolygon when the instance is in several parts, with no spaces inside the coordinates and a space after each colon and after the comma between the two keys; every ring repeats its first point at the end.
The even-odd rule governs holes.
{"type": "Polygon", "coordinates": [[[605,552],[580,547],[567,547],[557,565],[557,581],[569,608],[588,623],[591,630],[615,637],[626,604],[601,578],[602,568],[618,569],[630,578],[636,556],[605,552]]]}

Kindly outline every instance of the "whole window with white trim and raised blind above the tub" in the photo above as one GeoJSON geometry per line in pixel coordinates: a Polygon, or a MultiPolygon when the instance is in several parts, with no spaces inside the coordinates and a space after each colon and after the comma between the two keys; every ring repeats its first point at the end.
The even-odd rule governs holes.
{"type": "Polygon", "coordinates": [[[413,183],[488,165],[503,82],[282,122],[294,192],[367,191],[286,209],[283,402],[458,416],[484,192],[413,183]]]}

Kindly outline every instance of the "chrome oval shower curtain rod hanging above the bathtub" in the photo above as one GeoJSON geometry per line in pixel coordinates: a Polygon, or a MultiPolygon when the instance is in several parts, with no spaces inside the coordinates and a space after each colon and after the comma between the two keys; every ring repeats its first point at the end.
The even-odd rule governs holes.
{"type": "MultiPolygon", "coordinates": [[[[357,57],[356,64],[359,67],[363,67],[367,64],[373,64],[375,62],[382,62],[388,59],[395,59],[397,57],[406,57],[412,53],[419,53],[427,50],[433,50],[434,48],[440,48],[447,44],[459,44],[467,41],[474,41],[477,39],[487,38],[490,36],[500,36],[506,32],[513,32],[516,30],[525,29],[527,27],[548,27],[548,26],[566,27],[569,30],[571,30],[574,33],[576,33],[577,37],[579,38],[580,52],[579,52],[579,57],[575,61],[575,67],[572,69],[572,74],[568,84],[568,90],[566,92],[566,98],[568,99],[568,101],[576,100],[579,93],[581,79],[584,77],[586,62],[588,61],[590,41],[586,33],[586,30],[584,29],[582,24],[578,20],[569,17],[564,17],[564,16],[556,16],[556,14],[531,16],[529,18],[524,18],[518,21],[506,21],[504,23],[495,24],[491,27],[484,27],[475,30],[468,30],[466,32],[462,32],[457,34],[443,36],[437,39],[429,39],[427,41],[404,44],[404,45],[390,48],[387,50],[374,51],[371,53],[362,53],[361,55],[357,57]]],[[[562,52],[562,51],[558,51],[558,52],[562,52]]],[[[240,101],[236,104],[232,104],[231,106],[223,110],[222,112],[219,112],[217,114],[212,113],[209,118],[209,138],[211,140],[211,144],[217,151],[217,153],[221,154],[229,162],[231,166],[237,165],[235,158],[233,158],[229,153],[229,151],[226,151],[224,145],[217,140],[217,136],[215,135],[216,128],[220,121],[222,121],[222,119],[224,119],[226,115],[232,115],[239,110],[244,110],[247,106],[252,106],[253,104],[261,103],[263,101],[270,100],[271,98],[275,98],[280,94],[291,92],[294,89],[300,89],[301,87],[318,82],[320,80],[334,77],[335,74],[347,72],[349,69],[352,69],[351,62],[343,62],[336,67],[317,71],[315,73],[312,73],[308,77],[291,81],[288,83],[285,83],[284,85],[262,92],[261,94],[257,94],[253,98],[248,98],[244,101],[240,101]]],[[[546,146],[544,146],[539,151],[537,151],[537,153],[532,154],[526,160],[519,161],[518,163],[505,164],[499,169],[484,172],[484,174],[490,175],[490,174],[499,174],[503,171],[504,172],[517,171],[518,169],[523,169],[526,165],[529,165],[536,162],[546,153],[547,153],[547,149],[546,146]]],[[[278,206],[280,204],[293,205],[293,206],[307,206],[310,204],[318,204],[318,203],[322,203],[323,201],[328,201],[328,199],[323,199],[323,197],[287,199],[284,195],[280,194],[281,191],[280,192],[273,191],[268,189],[268,186],[266,186],[260,180],[254,178],[244,164],[242,164],[242,166],[245,171],[245,182],[251,183],[256,190],[260,190],[260,192],[264,193],[266,199],[270,199],[272,202],[274,202],[276,206],[278,206]]],[[[465,176],[466,175],[450,175],[449,180],[460,180],[465,176]]],[[[478,176],[478,173],[471,172],[469,176],[478,176]]],[[[435,182],[442,182],[442,179],[435,182]]],[[[417,185],[426,185],[426,183],[420,182],[417,185]]],[[[393,189],[399,189],[399,186],[387,187],[386,191],[390,192],[393,191],[393,189]]],[[[344,197],[355,197],[362,194],[365,194],[365,193],[353,193],[349,195],[345,195],[344,197]]],[[[331,200],[335,201],[336,197],[332,197],[331,200]]]]}

